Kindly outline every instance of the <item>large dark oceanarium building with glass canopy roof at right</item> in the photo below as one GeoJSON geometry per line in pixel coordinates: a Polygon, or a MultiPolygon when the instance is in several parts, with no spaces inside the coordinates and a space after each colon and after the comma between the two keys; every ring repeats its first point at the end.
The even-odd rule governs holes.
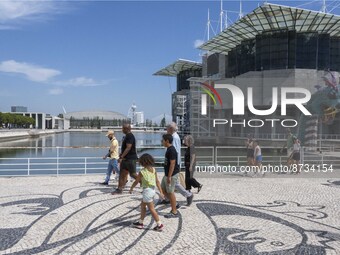
{"type": "MultiPolygon", "coordinates": [[[[296,120],[298,125],[292,129],[302,135],[306,135],[305,130],[309,130],[310,125],[315,126],[310,128],[314,133],[340,134],[340,119],[336,114],[340,105],[337,104],[340,102],[340,16],[264,4],[200,48],[208,53],[203,56],[202,76],[189,78],[190,93],[186,96],[190,102],[187,106],[190,118],[187,124],[184,123],[190,125],[190,132],[197,138],[217,143],[224,143],[230,137],[245,137],[249,133],[255,137],[275,138],[286,132],[286,125],[281,124],[286,119],[296,120]],[[232,84],[243,92],[244,115],[233,114],[232,94],[226,89],[218,89],[218,84],[232,84]],[[322,94],[327,86],[328,96],[334,92],[331,100],[327,100],[327,96],[312,95],[308,102],[311,106],[306,105],[306,108],[312,107],[316,119],[301,120],[302,112],[295,105],[287,105],[286,115],[282,115],[281,88],[305,88],[311,94],[322,94]],[[250,87],[253,93],[248,96],[252,96],[253,106],[258,110],[271,108],[273,88],[277,88],[276,111],[268,116],[254,115],[249,111],[247,93],[250,87]],[[206,106],[202,106],[202,92],[212,94],[205,97],[206,106]],[[328,105],[329,101],[332,104],[328,105]],[[332,114],[326,114],[329,112],[332,114]],[[214,127],[214,119],[221,119],[224,124],[214,127]],[[260,121],[248,125],[248,120],[252,119],[262,120],[263,125],[260,121]],[[240,124],[231,125],[232,122],[240,124]]],[[[156,74],[163,71],[165,75],[165,70],[156,74]]],[[[181,91],[183,93],[178,86],[175,94],[181,91]]],[[[296,93],[295,96],[303,97],[296,93]]]]}

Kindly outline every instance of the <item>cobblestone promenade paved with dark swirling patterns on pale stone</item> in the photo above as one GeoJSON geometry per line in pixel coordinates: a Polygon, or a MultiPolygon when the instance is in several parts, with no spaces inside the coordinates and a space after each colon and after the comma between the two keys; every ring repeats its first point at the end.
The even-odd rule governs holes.
{"type": "MultiPolygon", "coordinates": [[[[179,217],[135,229],[140,189],[102,175],[0,178],[0,254],[340,254],[340,180],[208,178],[179,217]]],[[[130,185],[130,183],[129,183],[130,185]]]]}

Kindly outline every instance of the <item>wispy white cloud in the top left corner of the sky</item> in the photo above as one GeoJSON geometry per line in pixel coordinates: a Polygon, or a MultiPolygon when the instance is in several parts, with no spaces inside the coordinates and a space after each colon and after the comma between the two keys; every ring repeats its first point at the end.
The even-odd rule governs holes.
{"type": "MultiPolygon", "coordinates": [[[[0,29],[2,25],[21,24],[27,21],[41,21],[51,18],[51,15],[65,11],[65,4],[57,1],[0,1],[0,29]]],[[[15,27],[15,26],[14,26],[15,27]]],[[[13,27],[13,28],[14,28],[13,27]]]]}

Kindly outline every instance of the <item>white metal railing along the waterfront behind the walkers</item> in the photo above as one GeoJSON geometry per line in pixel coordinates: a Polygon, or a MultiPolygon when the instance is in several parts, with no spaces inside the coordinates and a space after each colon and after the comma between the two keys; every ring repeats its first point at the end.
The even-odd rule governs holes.
{"type": "MultiPolygon", "coordinates": [[[[24,147],[23,147],[24,148],[24,147]]],[[[30,176],[30,175],[64,175],[64,174],[103,174],[106,173],[107,161],[102,157],[94,156],[61,156],[67,149],[90,149],[91,155],[102,155],[106,147],[49,147],[56,150],[54,157],[15,157],[0,158],[0,176],[30,176]],[[61,153],[61,150],[63,153],[61,153]],[[101,150],[101,151],[99,151],[101,150]]],[[[34,148],[37,149],[37,148],[34,148]]],[[[40,149],[48,149],[46,147],[40,149]]],[[[138,147],[138,154],[145,152],[155,158],[157,171],[163,170],[165,148],[160,146],[138,147]]],[[[182,165],[184,167],[184,148],[182,148],[182,165]]],[[[231,146],[206,146],[196,147],[197,165],[217,166],[231,165],[240,167],[247,164],[245,149],[231,146]],[[240,150],[239,154],[230,155],[232,150],[240,150]]],[[[286,155],[263,155],[263,164],[280,165],[286,164],[286,155]]],[[[324,164],[332,162],[340,169],[340,155],[338,157],[325,156],[322,153],[308,152],[301,150],[301,163],[324,164]]],[[[139,168],[140,166],[138,166],[139,168]]]]}

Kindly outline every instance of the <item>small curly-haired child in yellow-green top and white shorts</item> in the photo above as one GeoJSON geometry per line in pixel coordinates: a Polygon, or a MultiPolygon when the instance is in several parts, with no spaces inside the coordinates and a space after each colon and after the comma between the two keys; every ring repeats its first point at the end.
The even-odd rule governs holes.
{"type": "Polygon", "coordinates": [[[143,221],[146,214],[146,206],[149,208],[149,211],[151,212],[152,217],[157,223],[157,226],[153,229],[156,231],[162,231],[163,230],[163,224],[161,223],[159,216],[155,210],[154,204],[153,204],[153,198],[156,195],[155,187],[157,185],[158,190],[160,191],[160,195],[163,198],[163,192],[161,189],[160,182],[157,178],[157,172],[155,168],[152,167],[152,165],[155,163],[155,160],[150,154],[143,154],[139,158],[139,164],[143,167],[143,169],[139,172],[137,179],[132,184],[130,188],[130,194],[132,193],[134,187],[139,182],[142,182],[142,188],[143,188],[143,200],[141,203],[141,214],[140,214],[140,220],[137,222],[134,222],[132,225],[136,228],[142,229],[144,227],[143,221]]]}

